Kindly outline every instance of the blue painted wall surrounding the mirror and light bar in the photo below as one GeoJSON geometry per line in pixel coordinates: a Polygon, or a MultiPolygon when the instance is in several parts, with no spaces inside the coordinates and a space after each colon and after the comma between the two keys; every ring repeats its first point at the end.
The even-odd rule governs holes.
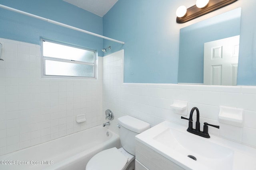
{"type": "Polygon", "coordinates": [[[176,9],[191,0],[118,0],[103,17],[103,34],[120,41],[111,53],[124,49],[124,82],[177,83],[180,28],[242,7],[238,85],[256,85],[255,0],[233,4],[184,24],[176,23],[176,9]]]}

